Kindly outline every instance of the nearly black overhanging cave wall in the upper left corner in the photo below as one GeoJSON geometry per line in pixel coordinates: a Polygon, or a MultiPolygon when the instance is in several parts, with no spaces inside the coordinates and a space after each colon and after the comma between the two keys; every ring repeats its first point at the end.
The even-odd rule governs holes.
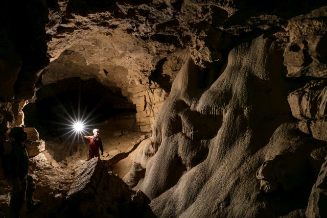
{"type": "Polygon", "coordinates": [[[40,87],[39,78],[49,64],[45,34],[49,11],[43,1],[0,5],[0,132],[4,133],[10,125],[21,124],[22,105],[40,87]]]}

